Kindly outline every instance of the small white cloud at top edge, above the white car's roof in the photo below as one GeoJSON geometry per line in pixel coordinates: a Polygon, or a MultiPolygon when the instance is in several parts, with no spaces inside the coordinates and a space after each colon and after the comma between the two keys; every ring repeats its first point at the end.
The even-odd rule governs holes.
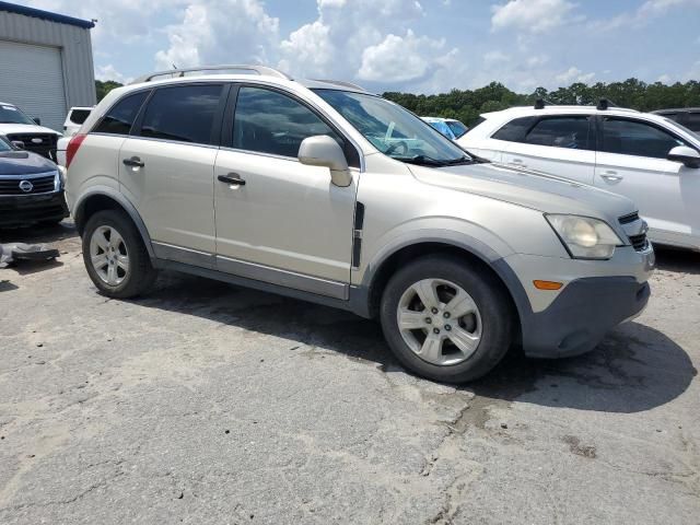
{"type": "Polygon", "coordinates": [[[546,33],[569,22],[575,7],[567,0],[510,0],[491,8],[491,30],[546,33]]]}

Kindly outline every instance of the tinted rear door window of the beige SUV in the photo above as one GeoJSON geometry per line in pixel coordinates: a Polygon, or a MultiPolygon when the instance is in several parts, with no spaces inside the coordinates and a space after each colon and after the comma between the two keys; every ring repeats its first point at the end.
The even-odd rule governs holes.
{"type": "Polygon", "coordinates": [[[209,144],[221,84],[162,88],[149,101],[141,137],[209,144]]]}

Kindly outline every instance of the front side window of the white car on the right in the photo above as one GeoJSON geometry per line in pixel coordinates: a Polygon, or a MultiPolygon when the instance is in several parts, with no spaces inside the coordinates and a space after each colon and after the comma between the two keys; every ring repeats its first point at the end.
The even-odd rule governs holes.
{"type": "Polygon", "coordinates": [[[654,126],[635,120],[606,118],[603,122],[603,148],[608,153],[666,159],[682,140],[654,126]]]}

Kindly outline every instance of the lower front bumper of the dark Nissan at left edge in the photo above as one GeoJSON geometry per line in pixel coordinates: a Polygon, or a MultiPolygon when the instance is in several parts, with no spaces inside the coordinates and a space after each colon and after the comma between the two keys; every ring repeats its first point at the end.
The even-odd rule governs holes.
{"type": "Polygon", "coordinates": [[[68,217],[63,191],[0,196],[0,226],[18,228],[68,217]]]}

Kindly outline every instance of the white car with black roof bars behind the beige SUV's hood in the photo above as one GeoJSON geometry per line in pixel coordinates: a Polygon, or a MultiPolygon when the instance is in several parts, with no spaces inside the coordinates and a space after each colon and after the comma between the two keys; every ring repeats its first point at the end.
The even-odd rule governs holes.
{"type": "Polygon", "coordinates": [[[653,242],[700,249],[700,137],[661,115],[602,103],[482,115],[459,144],[513,167],[629,197],[653,242]]]}

